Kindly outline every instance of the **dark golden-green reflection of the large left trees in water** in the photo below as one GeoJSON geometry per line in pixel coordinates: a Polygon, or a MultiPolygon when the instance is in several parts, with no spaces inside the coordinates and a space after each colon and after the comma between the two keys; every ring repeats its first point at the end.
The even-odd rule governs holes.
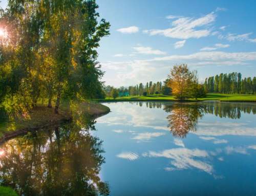
{"type": "Polygon", "coordinates": [[[48,132],[34,132],[2,145],[2,185],[24,195],[109,194],[108,184],[99,178],[104,157],[98,138],[68,124],[48,132]]]}

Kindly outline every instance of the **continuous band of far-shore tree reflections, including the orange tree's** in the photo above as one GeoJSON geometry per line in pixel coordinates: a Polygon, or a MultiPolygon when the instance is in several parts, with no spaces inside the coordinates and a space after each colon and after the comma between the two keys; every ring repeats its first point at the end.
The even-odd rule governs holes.
{"type": "Polygon", "coordinates": [[[196,132],[198,120],[205,114],[219,118],[240,119],[241,113],[256,114],[254,103],[224,103],[219,101],[204,101],[193,103],[146,102],[148,108],[163,108],[169,115],[166,117],[168,127],[174,137],[185,138],[189,132],[196,132]]]}

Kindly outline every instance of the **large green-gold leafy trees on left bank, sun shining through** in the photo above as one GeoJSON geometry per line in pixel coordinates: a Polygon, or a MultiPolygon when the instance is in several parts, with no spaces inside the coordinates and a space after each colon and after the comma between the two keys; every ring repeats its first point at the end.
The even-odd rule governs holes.
{"type": "Polygon", "coordinates": [[[25,113],[39,98],[102,98],[99,41],[110,24],[95,0],[9,1],[0,10],[0,106],[25,113]]]}

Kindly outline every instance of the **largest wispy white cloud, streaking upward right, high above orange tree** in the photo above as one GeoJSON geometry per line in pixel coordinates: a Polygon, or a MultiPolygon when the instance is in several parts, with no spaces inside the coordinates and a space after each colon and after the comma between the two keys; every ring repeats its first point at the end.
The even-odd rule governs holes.
{"type": "Polygon", "coordinates": [[[180,17],[173,21],[173,28],[144,30],[143,32],[150,35],[164,35],[166,37],[179,39],[206,37],[210,35],[209,25],[211,25],[215,19],[216,15],[214,12],[196,19],[193,17],[180,17]]]}

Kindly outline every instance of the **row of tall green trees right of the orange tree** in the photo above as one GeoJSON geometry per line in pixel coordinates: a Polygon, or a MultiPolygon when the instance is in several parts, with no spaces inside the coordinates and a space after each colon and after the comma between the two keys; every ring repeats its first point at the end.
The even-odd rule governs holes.
{"type": "Polygon", "coordinates": [[[204,88],[208,93],[255,94],[256,77],[242,79],[241,73],[221,73],[220,75],[206,78],[204,88]]]}

